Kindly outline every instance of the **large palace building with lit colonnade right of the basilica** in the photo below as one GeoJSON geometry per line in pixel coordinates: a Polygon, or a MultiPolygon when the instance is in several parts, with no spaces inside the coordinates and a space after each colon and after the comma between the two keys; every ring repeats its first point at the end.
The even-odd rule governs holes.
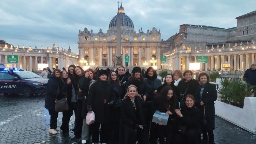
{"type": "Polygon", "coordinates": [[[218,28],[183,24],[179,33],[169,38],[170,47],[164,69],[186,70],[197,57],[207,57],[200,70],[246,70],[255,62],[256,11],[236,17],[237,27],[218,28]]]}

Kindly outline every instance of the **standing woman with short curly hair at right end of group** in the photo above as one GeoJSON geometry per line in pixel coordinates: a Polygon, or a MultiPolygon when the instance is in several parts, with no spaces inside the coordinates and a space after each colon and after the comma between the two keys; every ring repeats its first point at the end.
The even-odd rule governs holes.
{"type": "Polygon", "coordinates": [[[196,90],[196,106],[201,110],[202,114],[205,114],[207,121],[207,125],[202,131],[203,140],[207,142],[209,138],[209,143],[214,144],[214,101],[217,99],[217,90],[214,84],[209,83],[210,76],[206,72],[198,75],[198,81],[200,82],[200,86],[196,90]]]}

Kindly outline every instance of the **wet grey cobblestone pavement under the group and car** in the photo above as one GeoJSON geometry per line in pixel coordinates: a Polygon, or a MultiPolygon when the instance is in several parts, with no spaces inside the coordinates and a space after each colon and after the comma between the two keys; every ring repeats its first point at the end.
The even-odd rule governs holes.
{"type": "MultiPolygon", "coordinates": [[[[57,128],[61,125],[62,113],[58,116],[57,128]]],[[[44,108],[44,96],[31,98],[8,97],[0,95],[0,143],[1,144],[75,144],[81,140],[71,140],[74,116],[70,120],[70,133],[63,136],[49,133],[50,117],[44,108]]],[[[228,121],[215,117],[215,143],[217,144],[255,144],[256,135],[247,132],[228,121]]]]}

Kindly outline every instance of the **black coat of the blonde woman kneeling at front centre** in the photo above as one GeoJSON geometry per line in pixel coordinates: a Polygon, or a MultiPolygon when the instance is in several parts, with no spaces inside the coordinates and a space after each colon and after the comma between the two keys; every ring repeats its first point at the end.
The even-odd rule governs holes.
{"type": "MultiPolygon", "coordinates": [[[[134,139],[134,133],[130,133],[130,135],[125,135],[125,131],[134,131],[136,133],[136,129],[138,129],[138,125],[142,125],[143,129],[138,137],[142,140],[142,144],[147,144],[147,129],[145,124],[145,119],[143,115],[142,108],[142,100],[140,97],[136,96],[134,99],[137,114],[134,110],[130,97],[125,98],[121,104],[121,117],[120,117],[120,133],[119,133],[119,144],[129,143],[125,142],[126,138],[134,139]]],[[[136,136],[135,136],[136,139],[136,136]]]]}

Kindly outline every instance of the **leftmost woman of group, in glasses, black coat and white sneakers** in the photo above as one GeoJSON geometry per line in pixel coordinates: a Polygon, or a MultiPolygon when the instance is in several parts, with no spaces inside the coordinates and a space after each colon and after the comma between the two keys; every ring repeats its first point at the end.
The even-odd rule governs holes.
{"type": "Polygon", "coordinates": [[[57,118],[59,112],[55,111],[55,99],[63,98],[63,91],[65,91],[64,82],[60,78],[60,69],[55,69],[53,74],[49,76],[44,107],[48,110],[51,116],[49,132],[56,134],[57,129],[57,118]]]}

